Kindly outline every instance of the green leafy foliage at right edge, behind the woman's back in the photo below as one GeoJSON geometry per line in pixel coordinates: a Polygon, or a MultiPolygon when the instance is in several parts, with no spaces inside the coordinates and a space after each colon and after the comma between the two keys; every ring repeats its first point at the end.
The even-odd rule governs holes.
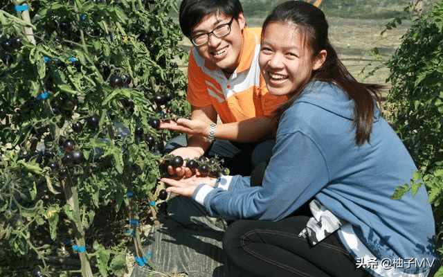
{"type": "MultiPolygon", "coordinates": [[[[394,26],[395,27],[395,26],[394,26]]],[[[401,46],[387,63],[392,88],[388,94],[390,122],[419,167],[411,184],[400,186],[399,198],[426,184],[438,235],[443,209],[443,1],[415,17],[401,46]]],[[[440,239],[439,251],[443,253],[440,239]]]]}

